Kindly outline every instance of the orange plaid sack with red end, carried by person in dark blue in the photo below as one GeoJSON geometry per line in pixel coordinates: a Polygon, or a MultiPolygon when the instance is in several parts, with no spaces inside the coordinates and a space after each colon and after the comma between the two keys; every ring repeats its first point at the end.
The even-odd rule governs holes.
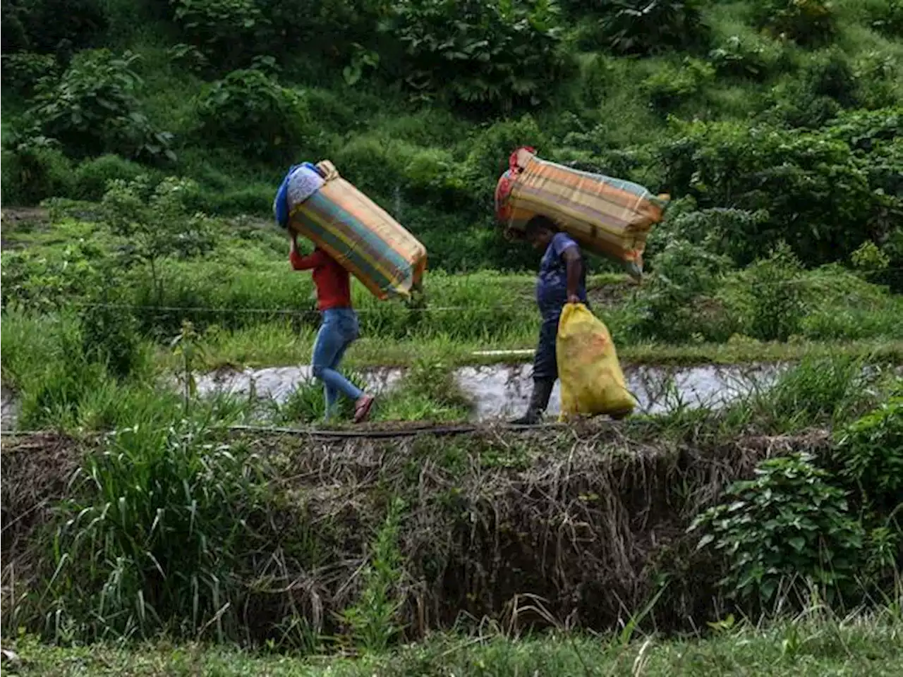
{"type": "Polygon", "coordinates": [[[532,148],[512,153],[498,181],[496,215],[510,236],[522,236],[531,218],[551,218],[586,250],[606,256],[632,276],[643,274],[643,252],[669,197],[602,174],[540,160],[532,148]]]}

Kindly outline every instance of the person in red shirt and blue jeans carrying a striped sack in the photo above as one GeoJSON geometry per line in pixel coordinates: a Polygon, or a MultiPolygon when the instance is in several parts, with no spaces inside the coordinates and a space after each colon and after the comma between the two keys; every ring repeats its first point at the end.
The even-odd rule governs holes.
{"type": "Polygon", "coordinates": [[[317,287],[317,305],[322,314],[320,331],[313,344],[313,376],[323,383],[326,394],[326,418],[334,413],[339,394],[354,401],[354,421],[364,422],[373,407],[373,397],[342,376],[339,369],[345,351],[359,335],[358,314],[351,308],[351,284],[348,271],[322,249],[311,255],[298,251],[298,238],[291,236],[289,261],[294,270],[313,272],[317,287]]]}

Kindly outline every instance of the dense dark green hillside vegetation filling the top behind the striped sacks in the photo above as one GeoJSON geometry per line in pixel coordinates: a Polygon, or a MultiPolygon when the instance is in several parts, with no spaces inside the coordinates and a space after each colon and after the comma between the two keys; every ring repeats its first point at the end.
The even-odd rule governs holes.
{"type": "Polygon", "coordinates": [[[328,157],[434,267],[519,266],[491,194],[534,144],[690,200],[660,235],[734,265],[781,240],[806,265],[868,241],[901,264],[896,0],[4,6],[0,203],[146,172],[266,216],[287,163],[328,157]]]}

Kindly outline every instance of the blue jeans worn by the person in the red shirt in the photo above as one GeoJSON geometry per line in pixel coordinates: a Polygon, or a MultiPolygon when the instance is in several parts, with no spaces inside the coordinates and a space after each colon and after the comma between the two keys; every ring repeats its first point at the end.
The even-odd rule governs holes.
{"type": "Polygon", "coordinates": [[[313,376],[323,382],[326,418],[330,418],[339,394],[357,402],[363,393],[337,369],[345,351],[358,338],[358,315],[350,308],[323,311],[323,321],[313,344],[313,376]]]}

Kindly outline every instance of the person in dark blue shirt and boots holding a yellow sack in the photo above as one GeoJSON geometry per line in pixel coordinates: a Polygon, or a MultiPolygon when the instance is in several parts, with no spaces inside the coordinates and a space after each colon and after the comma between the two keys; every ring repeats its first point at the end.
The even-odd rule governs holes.
{"type": "Polygon", "coordinates": [[[535,217],[526,225],[526,239],[535,249],[545,250],[536,278],[536,304],[543,324],[533,362],[533,394],[526,414],[514,422],[517,425],[539,422],[549,405],[558,380],[555,338],[564,306],[567,303],[588,305],[586,267],[580,246],[573,238],[560,232],[552,219],[535,217]]]}

